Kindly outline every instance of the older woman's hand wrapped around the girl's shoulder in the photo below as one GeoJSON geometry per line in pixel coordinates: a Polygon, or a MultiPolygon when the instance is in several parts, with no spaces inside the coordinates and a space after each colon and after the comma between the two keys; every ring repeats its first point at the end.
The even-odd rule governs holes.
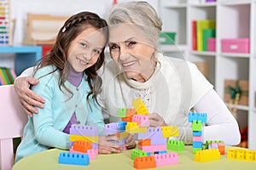
{"type": "Polygon", "coordinates": [[[15,92],[28,116],[32,116],[32,113],[38,113],[34,106],[44,109],[44,99],[30,89],[31,85],[37,85],[38,82],[38,79],[34,77],[20,77],[15,80],[15,92]]]}

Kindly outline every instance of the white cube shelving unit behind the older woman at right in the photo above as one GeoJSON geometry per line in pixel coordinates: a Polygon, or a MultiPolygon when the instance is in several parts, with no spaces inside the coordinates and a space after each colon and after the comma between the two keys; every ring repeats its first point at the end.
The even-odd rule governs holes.
{"type": "MultiPolygon", "coordinates": [[[[173,30],[173,28],[177,28],[181,24],[186,26],[186,34],[183,34],[185,35],[183,39],[186,40],[188,47],[186,59],[193,62],[207,62],[208,80],[212,82],[220,97],[224,99],[225,80],[246,80],[248,82],[248,103],[247,105],[238,105],[237,109],[238,112],[246,113],[241,116],[247,117],[248,147],[255,150],[256,0],[218,0],[216,2],[208,2],[207,0],[160,0],[160,2],[165,2],[160,4],[160,8],[165,9],[164,12],[161,12],[165,31],[176,31],[178,35],[181,32],[173,30]],[[186,12],[185,17],[177,13],[177,11],[181,11],[181,8],[182,11],[186,12]],[[172,26],[170,22],[173,18],[176,22],[179,21],[176,27],[172,26]],[[216,20],[216,37],[207,38],[207,51],[198,51],[197,42],[195,38],[193,39],[196,33],[193,27],[196,28],[197,20],[216,20]],[[165,24],[166,22],[168,24],[165,24]],[[242,40],[245,42],[240,44],[241,38],[245,37],[248,39],[242,40]],[[238,42],[235,41],[237,46],[236,44],[230,44],[229,41],[222,43],[223,39],[238,40],[238,42]],[[228,44],[230,49],[228,51],[222,50],[222,44],[228,44]],[[244,50],[242,51],[240,48],[244,50]]],[[[175,22],[173,24],[175,25],[175,22]]],[[[238,118],[241,117],[238,116],[238,118]]]]}

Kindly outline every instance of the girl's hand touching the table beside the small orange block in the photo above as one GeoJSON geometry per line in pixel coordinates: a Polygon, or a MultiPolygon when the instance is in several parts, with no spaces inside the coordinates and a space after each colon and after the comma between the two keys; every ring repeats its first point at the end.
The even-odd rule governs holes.
{"type": "Polygon", "coordinates": [[[112,152],[119,153],[120,146],[118,144],[113,144],[109,140],[119,141],[116,136],[100,136],[99,138],[99,153],[100,154],[111,154],[112,152]]]}

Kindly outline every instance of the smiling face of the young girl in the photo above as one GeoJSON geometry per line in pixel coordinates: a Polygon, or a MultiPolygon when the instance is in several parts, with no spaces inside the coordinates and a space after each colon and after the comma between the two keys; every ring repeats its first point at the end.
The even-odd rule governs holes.
{"type": "Polygon", "coordinates": [[[102,31],[90,25],[86,26],[84,31],[70,42],[67,50],[69,64],[77,72],[82,72],[96,64],[106,41],[102,31]]]}

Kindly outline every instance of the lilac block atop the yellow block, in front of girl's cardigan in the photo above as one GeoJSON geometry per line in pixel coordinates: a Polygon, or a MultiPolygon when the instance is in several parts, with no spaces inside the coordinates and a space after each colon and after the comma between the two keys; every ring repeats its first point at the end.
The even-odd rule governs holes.
{"type": "Polygon", "coordinates": [[[73,124],[70,128],[70,134],[79,136],[98,136],[98,129],[94,126],[73,124]]]}

